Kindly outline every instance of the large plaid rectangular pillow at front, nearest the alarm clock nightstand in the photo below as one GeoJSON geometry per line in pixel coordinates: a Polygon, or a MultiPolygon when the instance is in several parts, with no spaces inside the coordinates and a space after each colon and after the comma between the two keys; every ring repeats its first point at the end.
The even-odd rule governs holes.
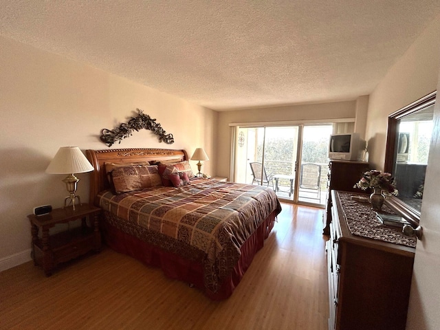
{"type": "Polygon", "coordinates": [[[157,166],[126,166],[115,168],[111,175],[115,192],[129,192],[155,186],[162,186],[157,166]]]}

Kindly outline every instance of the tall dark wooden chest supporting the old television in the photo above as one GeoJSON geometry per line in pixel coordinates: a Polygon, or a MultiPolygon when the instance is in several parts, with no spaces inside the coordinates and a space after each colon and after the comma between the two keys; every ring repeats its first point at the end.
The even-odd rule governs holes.
{"type": "Polygon", "coordinates": [[[330,234],[329,224],[331,222],[331,190],[344,190],[359,192],[359,188],[353,188],[360,180],[362,174],[369,170],[369,163],[349,160],[331,160],[329,172],[327,173],[327,203],[323,215],[323,234],[330,234]]]}

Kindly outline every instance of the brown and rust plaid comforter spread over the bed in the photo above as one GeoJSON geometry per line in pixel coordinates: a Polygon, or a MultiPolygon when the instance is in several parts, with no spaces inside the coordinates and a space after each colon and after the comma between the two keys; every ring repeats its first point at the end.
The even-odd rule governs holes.
{"type": "Polygon", "coordinates": [[[113,195],[100,206],[116,228],[189,259],[201,260],[205,285],[217,292],[246,239],[281,206],[274,190],[214,179],[113,195]]]}

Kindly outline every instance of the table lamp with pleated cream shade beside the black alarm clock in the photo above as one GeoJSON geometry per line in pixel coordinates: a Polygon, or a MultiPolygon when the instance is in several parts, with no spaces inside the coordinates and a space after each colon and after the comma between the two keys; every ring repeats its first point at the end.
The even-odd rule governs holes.
{"type": "Polygon", "coordinates": [[[78,146],[62,146],[56,153],[52,162],[46,168],[46,173],[51,174],[69,174],[63,182],[66,184],[69,196],[64,200],[64,206],[69,206],[72,203],[72,208],[75,210],[75,199],[78,198],[78,203],[81,203],[80,197],[75,194],[76,184],[80,181],[74,173],[85,173],[94,170],[85,155],[78,146]],[[69,203],[67,203],[69,201],[69,203]]]}

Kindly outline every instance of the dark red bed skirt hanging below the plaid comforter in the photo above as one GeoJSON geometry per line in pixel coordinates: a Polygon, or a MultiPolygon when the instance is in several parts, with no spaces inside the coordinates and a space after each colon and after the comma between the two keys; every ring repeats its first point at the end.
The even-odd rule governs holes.
{"type": "Polygon", "coordinates": [[[137,239],[137,237],[121,232],[109,225],[107,221],[102,223],[102,229],[105,243],[116,252],[132,256],[146,265],[161,267],[166,276],[195,285],[212,300],[222,300],[232,294],[246,270],[248,270],[256,252],[263,248],[264,240],[267,239],[274,227],[276,213],[276,211],[272,212],[241,246],[241,257],[238,263],[230,276],[221,283],[217,292],[211,292],[203,285],[203,265],[201,263],[165,252],[154,245],[137,239]]]}

